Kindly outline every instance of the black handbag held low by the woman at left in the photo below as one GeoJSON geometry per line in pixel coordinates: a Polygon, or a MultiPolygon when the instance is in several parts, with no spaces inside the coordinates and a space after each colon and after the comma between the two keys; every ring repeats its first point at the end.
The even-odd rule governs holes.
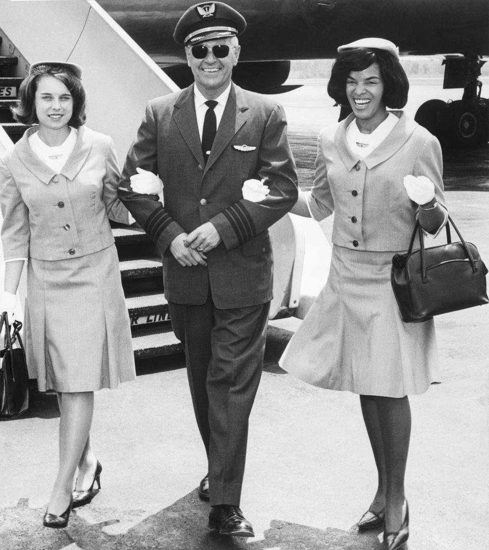
{"type": "Polygon", "coordinates": [[[20,321],[14,321],[10,334],[7,312],[2,313],[0,332],[5,325],[3,349],[0,350],[0,418],[9,419],[21,415],[29,408],[29,373],[25,361],[24,345],[19,331],[20,321]],[[19,347],[14,348],[15,342],[19,347]]]}

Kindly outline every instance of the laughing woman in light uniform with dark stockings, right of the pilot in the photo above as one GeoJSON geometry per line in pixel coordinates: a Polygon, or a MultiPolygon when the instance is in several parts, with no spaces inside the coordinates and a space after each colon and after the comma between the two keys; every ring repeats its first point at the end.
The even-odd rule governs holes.
{"type": "Polygon", "coordinates": [[[405,106],[408,89],[392,42],[338,48],[328,94],[353,112],[321,130],[314,185],[292,210],[317,221],[334,211],[331,270],[280,361],[306,382],[360,395],[378,485],[359,527],[383,526],[388,550],[409,536],[408,395],[439,379],[433,321],[402,321],[392,256],[408,249],[416,217],[432,235],[447,221],[437,139],[387,111],[405,106]]]}

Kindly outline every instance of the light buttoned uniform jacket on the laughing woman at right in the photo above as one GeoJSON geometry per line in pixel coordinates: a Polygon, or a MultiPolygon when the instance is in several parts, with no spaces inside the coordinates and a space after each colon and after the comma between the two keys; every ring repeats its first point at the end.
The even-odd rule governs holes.
{"type": "Polygon", "coordinates": [[[315,219],[334,210],[333,243],[354,250],[407,250],[417,205],[406,194],[405,175],[425,175],[444,206],[442,152],[425,128],[400,114],[386,139],[359,160],[347,144],[354,115],[323,128],[309,206],[315,219]]]}

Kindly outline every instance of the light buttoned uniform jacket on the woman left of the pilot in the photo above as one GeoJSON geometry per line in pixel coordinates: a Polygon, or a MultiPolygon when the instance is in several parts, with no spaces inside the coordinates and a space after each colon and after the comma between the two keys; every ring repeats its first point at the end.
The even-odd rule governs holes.
{"type": "Polygon", "coordinates": [[[114,242],[107,215],[129,222],[119,201],[119,167],[109,136],[81,126],[61,174],[29,145],[29,128],[0,160],[4,259],[64,260],[114,242]]]}

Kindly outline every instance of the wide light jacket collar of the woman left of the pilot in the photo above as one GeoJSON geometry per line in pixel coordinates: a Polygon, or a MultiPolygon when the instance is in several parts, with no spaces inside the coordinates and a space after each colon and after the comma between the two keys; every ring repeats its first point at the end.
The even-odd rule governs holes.
{"type": "MultiPolygon", "coordinates": [[[[40,179],[42,183],[48,185],[56,172],[47,164],[43,163],[41,159],[35,155],[29,145],[29,136],[39,130],[38,126],[29,128],[24,132],[22,138],[15,144],[14,151],[20,159],[20,162],[33,174],[37,179],[40,179]]],[[[94,136],[89,128],[80,126],[78,128],[78,135],[76,136],[75,146],[70,153],[68,160],[61,170],[61,174],[66,176],[69,180],[73,180],[80,172],[81,167],[89,156],[92,149],[94,136]]]]}

